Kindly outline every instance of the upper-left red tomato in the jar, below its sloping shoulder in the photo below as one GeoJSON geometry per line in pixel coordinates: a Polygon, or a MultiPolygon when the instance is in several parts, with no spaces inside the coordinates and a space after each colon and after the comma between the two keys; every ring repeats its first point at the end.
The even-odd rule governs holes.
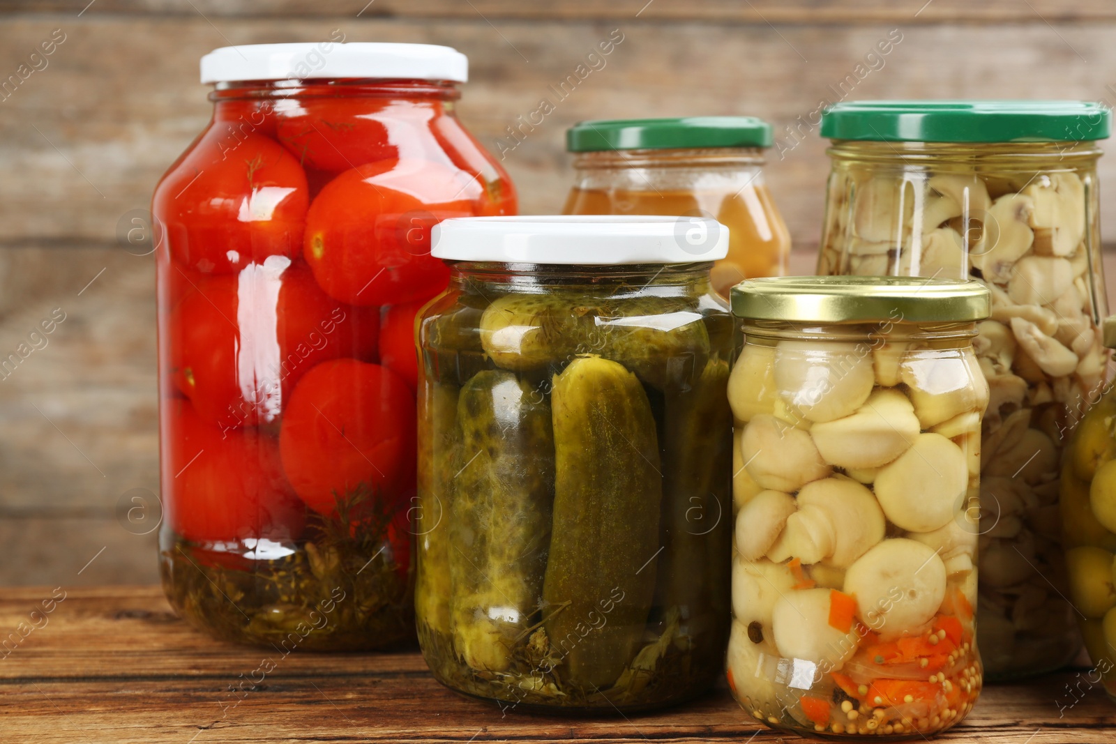
{"type": "Polygon", "coordinates": [[[290,153],[217,124],[160,182],[153,210],[175,261],[231,273],[268,255],[296,255],[308,203],[306,174],[290,153]]]}

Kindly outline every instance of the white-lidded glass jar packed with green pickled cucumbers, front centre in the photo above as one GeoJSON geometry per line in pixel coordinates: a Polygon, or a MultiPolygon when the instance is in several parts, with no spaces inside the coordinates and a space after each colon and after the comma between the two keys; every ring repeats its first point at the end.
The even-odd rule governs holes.
{"type": "Polygon", "coordinates": [[[504,711],[708,689],[729,630],[733,323],[711,220],[448,220],[419,321],[419,640],[504,711]],[[704,240],[695,240],[704,235],[704,240]]]}

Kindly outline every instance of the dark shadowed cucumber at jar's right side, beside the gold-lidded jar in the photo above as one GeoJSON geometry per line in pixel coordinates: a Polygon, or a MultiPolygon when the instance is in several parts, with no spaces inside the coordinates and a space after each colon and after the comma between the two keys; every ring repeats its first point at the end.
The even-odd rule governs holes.
{"type": "Polygon", "coordinates": [[[728,640],[732,544],[729,364],[711,359],[693,388],[666,396],[663,522],[655,605],[677,607],[680,631],[728,640]]]}

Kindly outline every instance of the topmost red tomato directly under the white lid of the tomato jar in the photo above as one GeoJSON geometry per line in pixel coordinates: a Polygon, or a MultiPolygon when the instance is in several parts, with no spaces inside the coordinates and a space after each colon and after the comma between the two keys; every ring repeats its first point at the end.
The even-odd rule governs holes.
{"type": "Polygon", "coordinates": [[[407,106],[373,98],[302,98],[297,105],[279,106],[277,134],[304,167],[339,173],[397,157],[387,127],[376,116],[407,106]]]}

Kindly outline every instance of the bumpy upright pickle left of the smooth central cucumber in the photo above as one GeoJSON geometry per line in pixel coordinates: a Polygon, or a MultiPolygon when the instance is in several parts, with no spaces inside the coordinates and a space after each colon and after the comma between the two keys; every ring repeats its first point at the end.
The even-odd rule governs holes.
{"type": "Polygon", "coordinates": [[[506,671],[539,605],[550,542],[550,406],[485,370],[458,402],[461,470],[450,509],[453,640],[477,670],[506,671]]]}

